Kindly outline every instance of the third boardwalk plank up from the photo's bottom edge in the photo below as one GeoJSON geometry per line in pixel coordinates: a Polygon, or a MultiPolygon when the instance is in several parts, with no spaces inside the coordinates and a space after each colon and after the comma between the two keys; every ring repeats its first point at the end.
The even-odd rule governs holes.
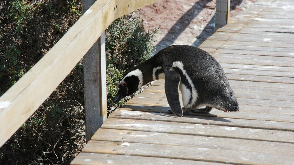
{"type": "MultiPolygon", "coordinates": [[[[190,126],[191,129],[193,126],[190,126]]],[[[181,128],[177,128],[181,129],[181,128]]],[[[232,134],[237,134],[233,127],[227,127],[231,129],[232,134]]],[[[99,129],[91,140],[98,141],[112,141],[122,143],[147,143],[147,144],[163,144],[163,145],[181,145],[181,146],[194,146],[202,148],[212,149],[228,149],[237,151],[249,151],[270,153],[278,155],[292,155],[290,150],[294,149],[294,144],[289,143],[277,143],[269,141],[256,141],[256,140],[244,140],[244,139],[232,139],[232,138],[220,138],[220,137],[207,137],[197,135],[181,135],[176,133],[158,133],[148,131],[129,131],[129,130],[117,130],[115,127],[111,129],[99,129]],[[111,138],[109,138],[111,137],[111,138]],[[177,140],[176,140],[177,139],[177,140]],[[221,143],[220,143],[221,142],[221,143]],[[238,144],[238,145],[236,145],[238,144]],[[256,151],[256,146],[268,146],[266,148],[260,148],[256,151]]],[[[121,144],[122,144],[121,143],[121,144]]]]}

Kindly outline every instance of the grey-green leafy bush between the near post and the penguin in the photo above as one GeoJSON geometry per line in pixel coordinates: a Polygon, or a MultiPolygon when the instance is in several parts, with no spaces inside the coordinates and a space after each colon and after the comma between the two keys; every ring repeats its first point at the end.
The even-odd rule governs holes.
{"type": "Polygon", "coordinates": [[[121,100],[118,106],[112,101],[117,92],[117,83],[124,72],[152,56],[155,50],[152,46],[153,37],[157,30],[158,28],[146,32],[140,15],[134,17],[130,14],[115,20],[105,31],[108,113],[120,108],[130,99],[121,100]]]}

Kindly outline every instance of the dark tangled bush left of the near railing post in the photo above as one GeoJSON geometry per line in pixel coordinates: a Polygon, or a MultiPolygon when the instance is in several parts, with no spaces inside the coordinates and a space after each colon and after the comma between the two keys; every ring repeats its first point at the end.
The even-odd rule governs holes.
{"type": "MultiPolygon", "coordinates": [[[[0,1],[0,95],[81,16],[79,0],[0,1]]],[[[84,145],[83,62],[1,147],[0,164],[69,163],[84,145]]]]}

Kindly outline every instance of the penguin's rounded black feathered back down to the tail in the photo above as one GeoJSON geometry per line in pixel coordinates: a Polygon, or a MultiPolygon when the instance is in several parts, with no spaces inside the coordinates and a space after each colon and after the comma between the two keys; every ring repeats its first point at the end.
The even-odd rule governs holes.
{"type": "Polygon", "coordinates": [[[222,110],[236,111],[239,109],[235,94],[230,88],[223,69],[204,50],[188,45],[173,45],[159,51],[152,58],[155,59],[157,66],[172,67],[173,62],[183,63],[184,69],[197,90],[196,106],[209,104],[222,110]]]}

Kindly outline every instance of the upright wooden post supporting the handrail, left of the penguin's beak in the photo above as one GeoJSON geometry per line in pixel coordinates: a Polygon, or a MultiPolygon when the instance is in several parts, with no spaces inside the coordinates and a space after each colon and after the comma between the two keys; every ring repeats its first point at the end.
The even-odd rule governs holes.
{"type": "MultiPolygon", "coordinates": [[[[95,0],[82,0],[85,13],[95,0]]],[[[105,33],[84,56],[86,142],[107,118],[105,33]]]]}

